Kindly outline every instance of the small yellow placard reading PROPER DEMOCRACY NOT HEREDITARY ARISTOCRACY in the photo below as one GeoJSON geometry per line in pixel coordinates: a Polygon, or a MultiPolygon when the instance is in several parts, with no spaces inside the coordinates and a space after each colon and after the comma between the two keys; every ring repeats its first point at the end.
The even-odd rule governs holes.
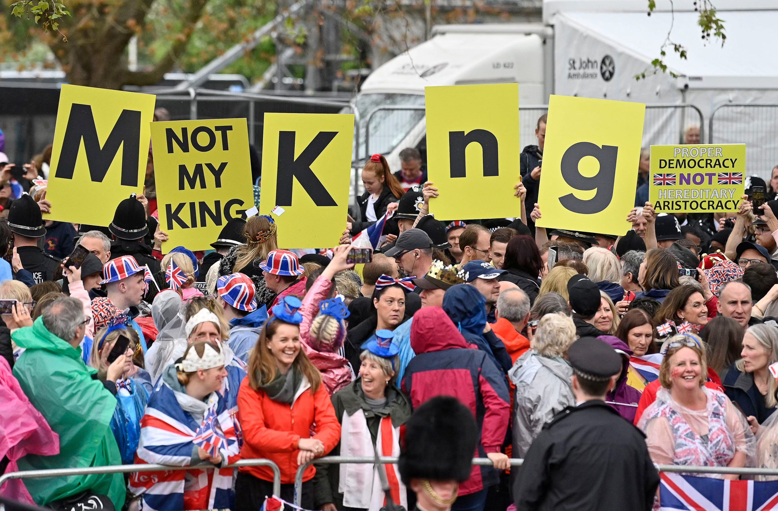
{"type": "Polygon", "coordinates": [[[745,144],[651,146],[657,213],[736,212],[744,193],[745,144]]]}

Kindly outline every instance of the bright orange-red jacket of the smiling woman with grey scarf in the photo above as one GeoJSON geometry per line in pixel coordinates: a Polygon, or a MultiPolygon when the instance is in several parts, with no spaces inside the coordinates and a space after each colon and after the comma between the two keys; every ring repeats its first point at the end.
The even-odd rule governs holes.
{"type": "MultiPolygon", "coordinates": [[[[321,385],[313,393],[307,380],[303,378],[302,394],[296,396],[289,405],[273,401],[264,390],[254,390],[249,379],[244,378],[238,390],[238,418],[243,429],[244,445],[240,457],[266,458],[272,460],[281,469],[282,484],[294,483],[297,468],[297,442],[301,438],[311,438],[311,427],[316,423],[315,439],[324,443],[324,454],[329,453],[340,441],[340,423],[335,417],[327,389],[321,385]],[[306,388],[307,387],[307,388],[306,388]]],[[[300,390],[298,390],[300,393],[300,390]]],[[[255,478],[273,480],[273,471],[269,467],[240,467],[255,478]]],[[[303,474],[303,481],[314,477],[313,465],[303,474]]]]}

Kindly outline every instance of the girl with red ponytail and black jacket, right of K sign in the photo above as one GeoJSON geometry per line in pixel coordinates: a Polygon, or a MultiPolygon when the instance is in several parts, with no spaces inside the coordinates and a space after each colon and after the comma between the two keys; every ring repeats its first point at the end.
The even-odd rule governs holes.
{"type": "Polygon", "coordinates": [[[362,169],[365,193],[356,198],[359,205],[359,221],[348,222],[346,228],[352,236],[372,226],[380,219],[391,202],[397,202],[403,191],[397,178],[389,170],[387,159],[374,154],[362,169]]]}

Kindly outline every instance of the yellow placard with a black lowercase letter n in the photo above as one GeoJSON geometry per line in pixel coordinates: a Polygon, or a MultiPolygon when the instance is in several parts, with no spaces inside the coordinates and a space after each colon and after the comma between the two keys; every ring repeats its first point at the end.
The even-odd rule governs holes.
{"type": "Polygon", "coordinates": [[[436,219],[519,216],[517,83],[425,87],[427,175],[440,197],[436,219]]]}

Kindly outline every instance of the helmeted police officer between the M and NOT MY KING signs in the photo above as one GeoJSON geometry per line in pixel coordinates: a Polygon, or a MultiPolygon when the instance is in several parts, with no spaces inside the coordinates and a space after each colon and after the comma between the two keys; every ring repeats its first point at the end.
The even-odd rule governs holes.
{"type": "Polygon", "coordinates": [[[159,272],[159,261],[152,256],[151,247],[143,239],[149,233],[149,226],[145,208],[135,194],[119,203],[108,230],[114,237],[114,242],[110,244],[111,259],[129,255],[135,257],[140,266],[148,264],[152,275],[159,272]]]}

